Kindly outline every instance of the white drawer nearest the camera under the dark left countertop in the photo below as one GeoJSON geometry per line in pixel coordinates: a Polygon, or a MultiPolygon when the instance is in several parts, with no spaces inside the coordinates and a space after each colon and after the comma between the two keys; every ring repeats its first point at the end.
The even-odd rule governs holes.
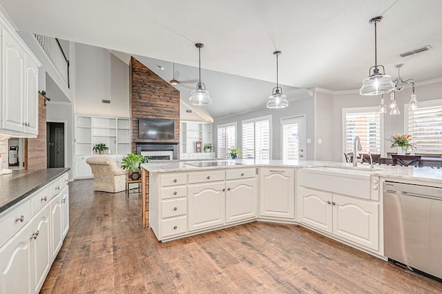
{"type": "Polygon", "coordinates": [[[24,226],[30,219],[30,201],[28,199],[23,200],[22,204],[19,204],[9,213],[0,217],[0,246],[10,236],[24,226]]]}

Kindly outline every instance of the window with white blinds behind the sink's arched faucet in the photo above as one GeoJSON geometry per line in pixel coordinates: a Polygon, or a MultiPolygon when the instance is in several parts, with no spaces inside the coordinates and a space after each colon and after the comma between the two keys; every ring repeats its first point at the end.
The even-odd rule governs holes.
{"type": "Polygon", "coordinates": [[[343,108],[343,148],[353,152],[354,138],[361,139],[363,150],[358,152],[382,154],[383,116],[377,107],[343,108]]]}

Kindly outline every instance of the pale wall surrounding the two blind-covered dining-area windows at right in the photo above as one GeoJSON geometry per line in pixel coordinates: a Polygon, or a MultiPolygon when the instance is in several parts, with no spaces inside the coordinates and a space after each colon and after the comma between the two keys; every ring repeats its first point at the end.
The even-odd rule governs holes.
{"type": "MultiPolygon", "coordinates": [[[[440,80],[440,79],[439,79],[440,80]]],[[[436,80],[434,80],[436,81],[436,80]]],[[[442,99],[442,81],[428,81],[432,84],[421,84],[421,86],[416,86],[414,92],[419,101],[428,101],[433,99],[442,99]]],[[[419,85],[419,83],[418,83],[419,85]]],[[[404,133],[404,104],[410,101],[411,88],[406,88],[401,92],[396,93],[396,102],[398,104],[399,110],[401,110],[401,115],[389,115],[390,110],[387,108],[387,113],[384,115],[384,139],[388,139],[391,135],[396,133],[404,133]]],[[[385,104],[390,104],[390,95],[384,95],[385,104]]],[[[379,106],[381,103],[381,95],[378,96],[361,96],[359,92],[352,92],[349,94],[335,94],[333,99],[333,160],[342,161],[343,160],[343,137],[342,137],[342,110],[343,108],[353,108],[353,107],[369,107],[369,106],[379,106]]],[[[384,142],[384,156],[387,152],[394,152],[396,150],[390,149],[390,143],[388,141],[384,142]]]]}

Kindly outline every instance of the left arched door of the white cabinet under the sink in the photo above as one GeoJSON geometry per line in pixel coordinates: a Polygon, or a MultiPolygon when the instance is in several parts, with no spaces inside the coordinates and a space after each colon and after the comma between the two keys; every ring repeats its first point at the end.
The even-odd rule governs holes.
{"type": "Polygon", "coordinates": [[[332,233],[332,194],[298,188],[298,222],[332,233]]]}

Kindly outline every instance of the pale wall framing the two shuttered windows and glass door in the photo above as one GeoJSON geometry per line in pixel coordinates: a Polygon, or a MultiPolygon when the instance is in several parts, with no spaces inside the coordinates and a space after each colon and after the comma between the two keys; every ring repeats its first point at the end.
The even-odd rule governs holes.
{"type": "MultiPolygon", "coordinates": [[[[237,146],[242,149],[242,121],[245,119],[253,119],[255,117],[264,117],[271,115],[271,159],[282,159],[281,155],[281,136],[280,136],[280,120],[282,117],[291,117],[296,115],[305,115],[307,134],[306,139],[314,142],[314,99],[312,97],[292,101],[289,107],[282,109],[263,108],[240,115],[224,119],[215,119],[213,123],[213,141],[214,150],[218,148],[218,125],[229,124],[235,122],[237,124],[237,146]]],[[[314,159],[314,144],[307,144],[305,159],[314,159]]],[[[218,156],[218,155],[217,155],[218,156]]]]}

